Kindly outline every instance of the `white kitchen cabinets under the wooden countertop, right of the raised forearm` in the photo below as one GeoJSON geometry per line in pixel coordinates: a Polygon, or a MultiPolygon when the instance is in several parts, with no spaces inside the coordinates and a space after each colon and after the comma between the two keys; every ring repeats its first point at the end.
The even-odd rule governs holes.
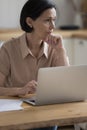
{"type": "Polygon", "coordinates": [[[87,64],[87,39],[65,38],[63,44],[69,57],[70,65],[87,64]]]}

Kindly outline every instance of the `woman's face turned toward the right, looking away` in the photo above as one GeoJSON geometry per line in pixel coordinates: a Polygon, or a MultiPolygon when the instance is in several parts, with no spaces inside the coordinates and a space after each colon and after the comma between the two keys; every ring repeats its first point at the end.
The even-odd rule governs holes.
{"type": "Polygon", "coordinates": [[[33,33],[41,40],[45,40],[55,28],[56,10],[55,8],[45,10],[40,17],[32,20],[33,33]]]}

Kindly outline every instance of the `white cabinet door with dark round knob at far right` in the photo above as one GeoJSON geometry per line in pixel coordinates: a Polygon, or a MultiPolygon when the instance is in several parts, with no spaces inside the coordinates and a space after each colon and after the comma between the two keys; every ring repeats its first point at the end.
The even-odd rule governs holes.
{"type": "Polygon", "coordinates": [[[74,39],[74,64],[87,64],[87,39],[74,39]]]}

